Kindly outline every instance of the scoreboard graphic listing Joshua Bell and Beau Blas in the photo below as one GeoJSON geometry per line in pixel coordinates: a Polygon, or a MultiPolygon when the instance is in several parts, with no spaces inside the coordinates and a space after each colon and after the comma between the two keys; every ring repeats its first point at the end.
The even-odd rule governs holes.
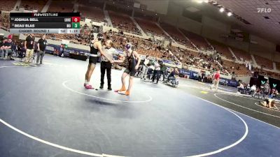
{"type": "Polygon", "coordinates": [[[80,13],[10,13],[10,33],[80,33],[80,13]]]}

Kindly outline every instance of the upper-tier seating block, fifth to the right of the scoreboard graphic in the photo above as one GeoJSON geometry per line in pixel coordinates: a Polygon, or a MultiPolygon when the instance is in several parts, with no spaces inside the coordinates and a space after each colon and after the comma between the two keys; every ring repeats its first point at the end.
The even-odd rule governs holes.
{"type": "Polygon", "coordinates": [[[211,49],[210,46],[208,45],[208,43],[206,42],[206,40],[196,34],[196,33],[192,33],[190,31],[186,31],[184,29],[180,29],[184,34],[185,36],[187,36],[191,42],[193,42],[199,49],[201,50],[209,50],[211,49]]]}

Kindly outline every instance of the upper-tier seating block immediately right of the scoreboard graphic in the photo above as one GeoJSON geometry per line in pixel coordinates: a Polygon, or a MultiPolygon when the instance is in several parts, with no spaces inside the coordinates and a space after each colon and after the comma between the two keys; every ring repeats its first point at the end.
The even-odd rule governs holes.
{"type": "Polygon", "coordinates": [[[81,17],[89,18],[95,22],[102,22],[105,19],[104,12],[101,8],[90,6],[79,6],[78,10],[81,13],[81,17]]]}

